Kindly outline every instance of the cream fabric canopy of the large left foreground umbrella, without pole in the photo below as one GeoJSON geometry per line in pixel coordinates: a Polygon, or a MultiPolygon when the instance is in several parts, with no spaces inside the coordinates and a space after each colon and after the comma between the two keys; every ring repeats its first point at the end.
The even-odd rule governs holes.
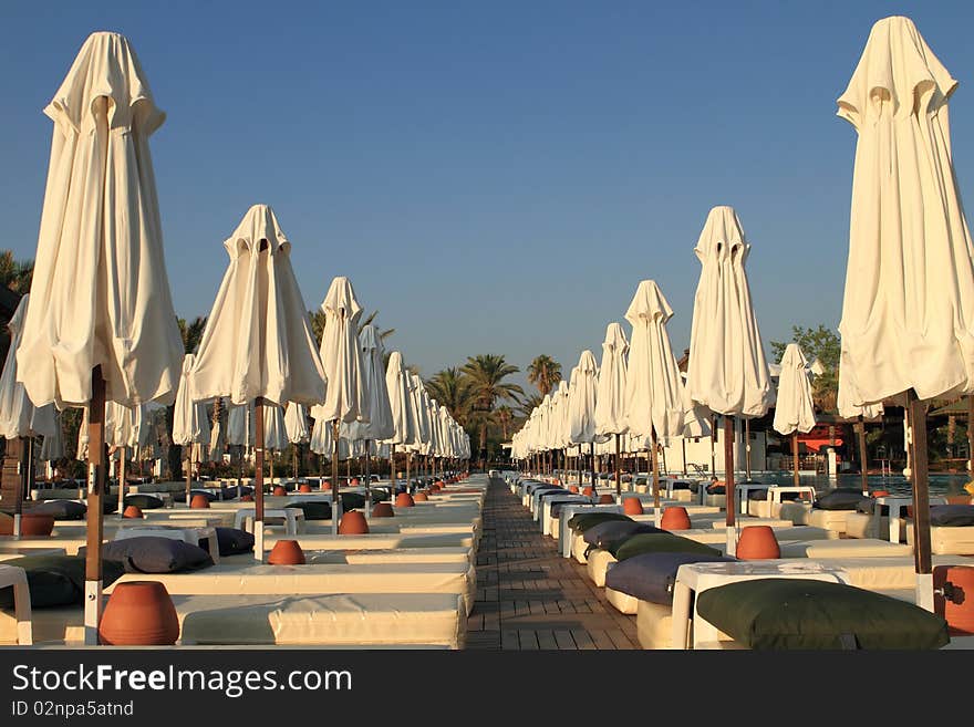
{"type": "Polygon", "coordinates": [[[38,405],[83,406],[100,365],[108,401],[168,404],[183,344],[148,149],[166,115],[127,39],[90,35],[44,113],[54,134],[20,381],[38,405]]]}

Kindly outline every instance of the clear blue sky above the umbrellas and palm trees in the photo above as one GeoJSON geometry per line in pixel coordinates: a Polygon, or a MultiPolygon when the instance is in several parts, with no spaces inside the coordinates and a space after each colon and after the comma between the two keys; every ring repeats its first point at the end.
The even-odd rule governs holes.
{"type": "MultiPolygon", "coordinates": [[[[3,241],[33,257],[41,113],[84,39],[124,33],[168,114],[152,139],[177,313],[266,202],[308,308],[348,276],[424,375],[469,354],[566,375],[655,279],[690,343],[715,205],[737,209],[766,347],[837,326],[856,135],[835,115],[872,23],[905,14],[960,82],[974,185],[974,2],[20,2],[0,27],[3,241]]],[[[974,194],[967,191],[967,194],[974,194]]],[[[628,329],[628,326],[626,326],[628,329]]]]}

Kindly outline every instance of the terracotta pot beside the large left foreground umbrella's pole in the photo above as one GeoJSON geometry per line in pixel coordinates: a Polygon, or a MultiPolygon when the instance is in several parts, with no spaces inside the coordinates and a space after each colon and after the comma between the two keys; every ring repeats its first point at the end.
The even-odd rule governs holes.
{"type": "Polygon", "coordinates": [[[158,581],[116,583],[99,624],[99,641],[116,646],[172,646],[179,619],[166,586],[158,581]]]}

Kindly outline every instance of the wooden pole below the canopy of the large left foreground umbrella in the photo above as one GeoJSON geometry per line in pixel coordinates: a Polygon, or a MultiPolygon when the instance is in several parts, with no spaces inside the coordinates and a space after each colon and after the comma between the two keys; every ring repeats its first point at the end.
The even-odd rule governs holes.
{"type": "Polygon", "coordinates": [[[102,498],[105,472],[105,380],[101,364],[92,371],[92,397],[87,411],[87,533],[84,561],[84,643],[99,643],[102,617],[102,498]]]}

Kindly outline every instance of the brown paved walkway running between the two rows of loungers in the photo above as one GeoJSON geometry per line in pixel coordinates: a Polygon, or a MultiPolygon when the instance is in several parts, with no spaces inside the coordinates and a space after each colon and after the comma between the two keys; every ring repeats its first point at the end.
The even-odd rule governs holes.
{"type": "Polygon", "coordinates": [[[640,648],[635,616],[619,613],[584,567],[557,552],[501,479],[490,481],[483,528],[467,648],[640,648]]]}

